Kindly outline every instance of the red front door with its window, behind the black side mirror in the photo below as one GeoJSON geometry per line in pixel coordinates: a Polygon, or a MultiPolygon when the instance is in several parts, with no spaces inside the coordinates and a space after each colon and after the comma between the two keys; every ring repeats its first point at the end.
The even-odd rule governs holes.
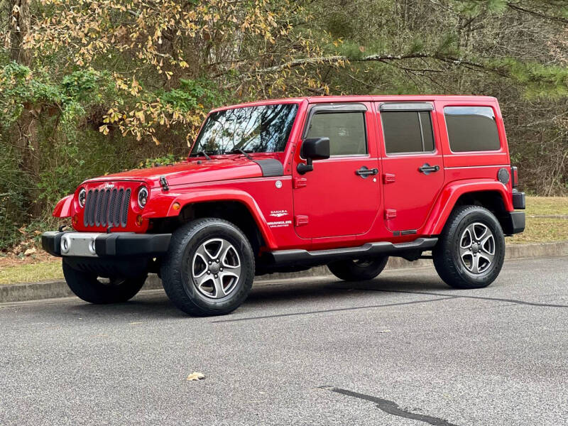
{"type": "MultiPolygon", "coordinates": [[[[316,104],[308,111],[302,138],[329,138],[331,156],[315,160],[304,175],[293,170],[298,236],[351,236],[371,228],[380,204],[372,124],[370,104],[316,104]]],[[[295,165],[303,161],[296,153],[295,165]]]]}

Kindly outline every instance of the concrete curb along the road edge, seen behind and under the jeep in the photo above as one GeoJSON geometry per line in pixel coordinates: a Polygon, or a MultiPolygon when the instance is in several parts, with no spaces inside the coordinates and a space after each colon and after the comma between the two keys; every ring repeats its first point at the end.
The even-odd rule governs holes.
{"type": "MultiPolygon", "coordinates": [[[[533,258],[547,256],[568,256],[568,241],[558,241],[555,243],[534,243],[534,244],[512,244],[507,246],[505,258],[533,258]]],[[[421,266],[431,266],[432,261],[420,259],[409,262],[403,258],[390,258],[387,269],[399,268],[419,268],[421,266]]],[[[318,266],[308,271],[296,273],[273,273],[262,275],[256,278],[255,283],[264,285],[273,280],[287,280],[291,278],[316,277],[330,275],[325,266],[318,266]]],[[[142,290],[154,290],[162,288],[162,283],[158,275],[150,275],[142,290]]],[[[0,303],[5,302],[25,302],[26,300],[55,299],[58,297],[69,297],[73,293],[67,287],[65,281],[44,281],[41,283],[21,283],[0,285],[0,303]]]]}

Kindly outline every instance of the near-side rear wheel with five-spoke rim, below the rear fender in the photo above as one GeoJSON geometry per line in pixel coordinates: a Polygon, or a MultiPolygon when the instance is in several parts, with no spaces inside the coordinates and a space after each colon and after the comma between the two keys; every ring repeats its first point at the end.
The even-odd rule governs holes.
{"type": "Polygon", "coordinates": [[[487,287],[501,272],[505,259],[501,224],[484,207],[457,207],[432,255],[439,277],[450,287],[487,287]]]}

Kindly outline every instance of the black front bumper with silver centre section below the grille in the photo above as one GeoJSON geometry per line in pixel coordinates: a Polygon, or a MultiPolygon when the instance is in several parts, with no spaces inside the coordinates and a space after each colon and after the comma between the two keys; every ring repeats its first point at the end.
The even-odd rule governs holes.
{"type": "Polygon", "coordinates": [[[168,251],[171,237],[172,234],[48,231],[41,235],[41,245],[51,255],[60,257],[155,257],[168,251]]]}

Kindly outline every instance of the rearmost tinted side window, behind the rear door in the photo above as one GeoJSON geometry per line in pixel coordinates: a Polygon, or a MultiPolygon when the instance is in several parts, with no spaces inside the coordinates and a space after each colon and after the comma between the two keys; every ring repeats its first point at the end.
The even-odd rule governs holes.
{"type": "Polygon", "coordinates": [[[501,148],[491,107],[445,107],[449,148],[454,153],[498,151],[501,148]]]}

